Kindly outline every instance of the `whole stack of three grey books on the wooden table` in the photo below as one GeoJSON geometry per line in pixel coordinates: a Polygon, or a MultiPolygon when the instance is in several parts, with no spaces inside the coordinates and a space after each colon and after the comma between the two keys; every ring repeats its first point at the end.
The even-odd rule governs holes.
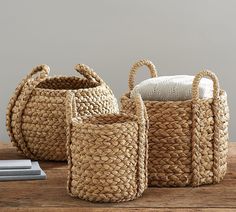
{"type": "Polygon", "coordinates": [[[0,160],[0,181],[44,180],[45,172],[31,160],[0,160]]]}

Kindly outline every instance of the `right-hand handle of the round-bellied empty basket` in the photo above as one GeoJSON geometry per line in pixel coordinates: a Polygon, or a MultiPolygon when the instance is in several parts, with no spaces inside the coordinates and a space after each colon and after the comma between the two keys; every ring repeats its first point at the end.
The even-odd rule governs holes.
{"type": "Polygon", "coordinates": [[[79,72],[81,75],[83,75],[85,78],[87,78],[91,81],[95,81],[95,82],[98,82],[98,83],[101,83],[101,84],[104,83],[102,78],[99,77],[97,75],[97,73],[92,68],[90,68],[89,66],[87,66],[85,64],[77,64],[75,66],[75,70],[77,72],[79,72]]]}

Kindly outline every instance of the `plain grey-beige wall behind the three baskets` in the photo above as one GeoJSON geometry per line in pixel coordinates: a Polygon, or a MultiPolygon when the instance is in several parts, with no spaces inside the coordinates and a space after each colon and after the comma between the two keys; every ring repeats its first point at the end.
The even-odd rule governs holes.
{"type": "Polygon", "coordinates": [[[160,75],[215,71],[228,92],[236,140],[235,20],[234,0],[0,1],[0,140],[8,141],[8,99],[33,66],[73,75],[76,63],[86,63],[119,97],[140,58],[151,59],[160,75]]]}

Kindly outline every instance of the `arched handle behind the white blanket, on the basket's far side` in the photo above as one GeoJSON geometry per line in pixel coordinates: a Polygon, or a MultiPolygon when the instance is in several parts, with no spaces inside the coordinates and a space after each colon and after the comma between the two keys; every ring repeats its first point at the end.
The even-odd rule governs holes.
{"type": "Polygon", "coordinates": [[[147,66],[148,67],[150,75],[151,75],[152,78],[157,77],[156,67],[150,60],[146,60],[146,59],[139,60],[130,69],[130,73],[129,73],[129,91],[134,89],[134,81],[135,81],[136,73],[137,73],[138,69],[142,66],[147,66]]]}

